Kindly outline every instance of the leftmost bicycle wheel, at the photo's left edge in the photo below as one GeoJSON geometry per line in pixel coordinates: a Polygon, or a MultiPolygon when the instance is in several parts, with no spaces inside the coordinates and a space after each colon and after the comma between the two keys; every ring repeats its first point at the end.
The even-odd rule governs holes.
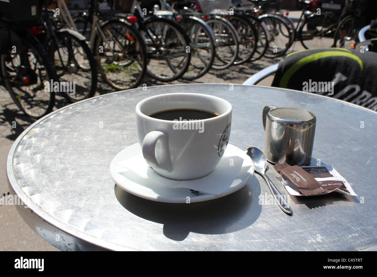
{"type": "Polygon", "coordinates": [[[41,118],[52,111],[55,92],[50,86],[55,73],[40,43],[29,41],[25,51],[2,54],[0,65],[5,87],[17,107],[32,118],[41,118]],[[38,45],[38,47],[37,47],[38,45]]]}

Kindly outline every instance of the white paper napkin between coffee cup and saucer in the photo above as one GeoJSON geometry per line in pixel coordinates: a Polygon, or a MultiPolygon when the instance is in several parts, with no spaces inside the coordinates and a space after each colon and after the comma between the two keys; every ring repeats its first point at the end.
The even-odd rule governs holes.
{"type": "Polygon", "coordinates": [[[162,177],[147,164],[142,153],[130,159],[118,162],[117,165],[127,168],[141,178],[152,179],[167,187],[189,188],[191,190],[218,195],[231,187],[231,184],[243,166],[251,167],[251,159],[248,156],[246,156],[246,158],[250,159],[250,161],[244,162],[245,155],[246,154],[241,149],[228,144],[221,161],[210,174],[199,179],[188,181],[177,181],[162,177]]]}

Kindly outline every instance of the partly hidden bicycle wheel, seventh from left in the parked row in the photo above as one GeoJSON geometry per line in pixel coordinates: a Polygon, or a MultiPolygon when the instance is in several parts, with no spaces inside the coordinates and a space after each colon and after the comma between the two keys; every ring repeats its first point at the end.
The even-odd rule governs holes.
{"type": "Polygon", "coordinates": [[[256,34],[253,23],[243,15],[233,14],[228,21],[236,28],[238,34],[238,55],[235,65],[247,63],[256,51],[256,34]]]}

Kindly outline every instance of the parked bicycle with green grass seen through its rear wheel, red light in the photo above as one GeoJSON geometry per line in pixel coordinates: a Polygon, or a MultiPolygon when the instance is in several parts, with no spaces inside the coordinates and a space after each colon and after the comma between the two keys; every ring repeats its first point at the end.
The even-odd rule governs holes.
{"type": "Polygon", "coordinates": [[[106,20],[99,12],[98,2],[90,0],[89,13],[72,18],[88,40],[103,80],[117,90],[139,86],[146,73],[147,57],[144,38],[133,26],[136,17],[106,20]]]}

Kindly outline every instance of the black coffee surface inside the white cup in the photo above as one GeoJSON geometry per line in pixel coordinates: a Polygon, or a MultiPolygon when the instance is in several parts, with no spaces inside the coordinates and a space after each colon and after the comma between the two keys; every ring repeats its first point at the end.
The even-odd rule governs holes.
{"type": "Polygon", "coordinates": [[[195,109],[174,109],[153,113],[150,117],[162,120],[202,120],[218,116],[217,113],[195,109]]]}

